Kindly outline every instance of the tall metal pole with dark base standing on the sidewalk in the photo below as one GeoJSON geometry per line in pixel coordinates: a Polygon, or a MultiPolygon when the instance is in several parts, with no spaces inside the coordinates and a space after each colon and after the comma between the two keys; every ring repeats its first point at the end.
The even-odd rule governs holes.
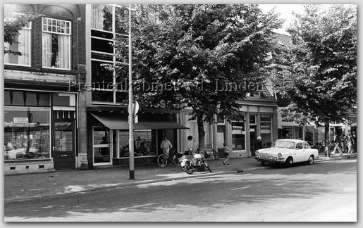
{"type": "Polygon", "coordinates": [[[134,127],[133,127],[133,68],[131,59],[131,4],[129,4],[128,15],[128,125],[129,125],[129,163],[130,163],[130,179],[135,179],[134,170],[134,127]]]}

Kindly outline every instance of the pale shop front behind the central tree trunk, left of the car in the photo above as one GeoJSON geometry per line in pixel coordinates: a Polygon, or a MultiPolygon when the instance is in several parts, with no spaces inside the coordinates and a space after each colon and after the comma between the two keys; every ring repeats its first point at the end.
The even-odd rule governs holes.
{"type": "MultiPolygon", "coordinates": [[[[242,114],[228,122],[226,118],[217,117],[216,122],[204,122],[204,142],[219,151],[224,158],[223,143],[230,148],[231,158],[254,156],[254,144],[257,137],[262,138],[262,146],[269,147],[278,137],[276,100],[246,99],[241,101],[242,114]]],[[[190,119],[190,110],[180,111],[180,120],[190,129],[181,131],[181,145],[185,144],[188,135],[194,140],[194,150],[198,146],[197,122],[190,119]]],[[[184,148],[181,148],[182,150],[184,148]]]]}

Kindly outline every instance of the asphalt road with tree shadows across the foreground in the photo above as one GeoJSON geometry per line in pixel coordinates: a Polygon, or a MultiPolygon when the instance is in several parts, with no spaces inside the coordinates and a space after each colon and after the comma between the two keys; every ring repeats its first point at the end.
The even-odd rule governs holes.
{"type": "Polygon", "coordinates": [[[5,222],[355,222],[357,160],[4,203],[5,222]]]}

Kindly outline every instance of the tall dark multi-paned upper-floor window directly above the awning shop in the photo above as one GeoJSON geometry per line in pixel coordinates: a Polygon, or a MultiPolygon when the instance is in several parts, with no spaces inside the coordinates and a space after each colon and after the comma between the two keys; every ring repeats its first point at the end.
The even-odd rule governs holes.
{"type": "Polygon", "coordinates": [[[97,103],[127,103],[128,68],[116,58],[115,39],[128,40],[128,8],[106,4],[91,5],[92,101],[97,103]],[[99,87],[99,85],[102,85],[99,87]]]}

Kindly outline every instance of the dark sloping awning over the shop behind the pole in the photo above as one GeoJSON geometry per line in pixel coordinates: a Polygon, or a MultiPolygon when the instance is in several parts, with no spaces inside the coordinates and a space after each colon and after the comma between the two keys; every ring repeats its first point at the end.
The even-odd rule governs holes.
{"type": "MultiPolygon", "coordinates": [[[[128,115],[119,113],[91,113],[109,129],[128,129],[128,115]]],[[[142,114],[138,115],[138,122],[133,125],[134,129],[187,129],[178,124],[168,115],[142,114]]]]}

